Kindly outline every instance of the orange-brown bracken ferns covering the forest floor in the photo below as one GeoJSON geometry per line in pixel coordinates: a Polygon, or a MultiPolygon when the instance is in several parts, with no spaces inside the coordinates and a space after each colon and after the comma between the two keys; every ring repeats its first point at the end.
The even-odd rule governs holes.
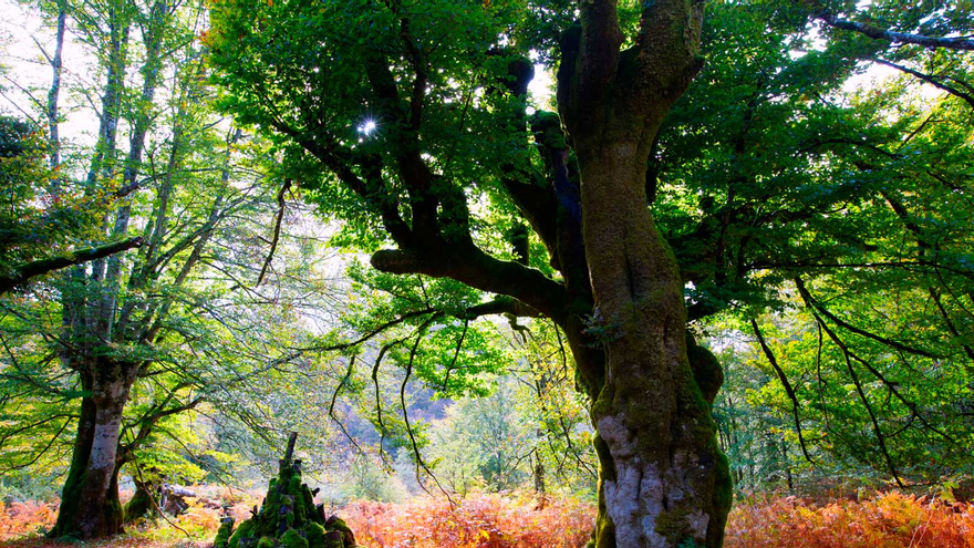
{"type": "MultiPolygon", "coordinates": [[[[229,500],[229,511],[242,515],[252,502],[238,496],[229,500]]],[[[220,513],[193,505],[172,523],[141,524],[111,540],[64,544],[38,535],[53,524],[55,504],[0,505],[0,547],[207,548],[220,513]]],[[[577,499],[541,506],[527,496],[477,495],[453,507],[414,498],[353,503],[336,513],[362,548],[576,548],[588,540],[594,507],[577,499]]],[[[974,548],[974,505],[899,493],[826,503],[753,497],[735,505],[725,547],[974,548]]]]}

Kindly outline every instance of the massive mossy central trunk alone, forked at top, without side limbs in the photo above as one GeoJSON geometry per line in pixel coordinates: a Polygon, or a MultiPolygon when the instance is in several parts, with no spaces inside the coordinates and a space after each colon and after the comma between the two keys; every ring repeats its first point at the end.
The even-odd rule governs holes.
{"type": "MultiPolygon", "coordinates": [[[[646,4],[622,50],[614,2],[581,4],[558,103],[580,168],[582,240],[604,363],[590,383],[601,462],[598,548],[719,547],[729,473],[687,356],[683,281],[646,200],[650,147],[700,68],[703,6],[646,4]]],[[[580,364],[586,366],[584,363],[580,364]]]]}

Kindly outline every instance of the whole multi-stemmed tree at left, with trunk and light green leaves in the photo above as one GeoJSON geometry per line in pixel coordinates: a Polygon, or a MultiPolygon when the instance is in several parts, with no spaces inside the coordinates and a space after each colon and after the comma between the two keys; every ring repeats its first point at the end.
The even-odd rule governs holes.
{"type": "MultiPolygon", "coordinates": [[[[0,445],[20,449],[18,437],[48,435],[44,444],[6,455],[4,465],[23,466],[76,428],[50,535],[91,538],[121,531],[120,474],[136,464],[160,425],[205,400],[230,409],[231,380],[246,385],[255,371],[273,368],[274,349],[261,347],[257,335],[282,343],[289,333],[276,330],[278,322],[293,325],[298,312],[278,311],[267,321],[240,312],[244,300],[256,298],[250,289],[237,293],[246,294],[240,302],[235,299],[241,285],[277,279],[255,235],[271,231],[278,205],[260,185],[262,159],[244,165],[238,149],[263,153],[210,108],[196,43],[201,4],[113,0],[44,8],[56,12],[55,50],[64,44],[68,24],[103,79],[94,86],[72,84],[72,91],[100,99],[97,141],[72,155],[85,157],[83,167],[52,155],[52,162],[64,159],[54,166],[55,190],[96,206],[89,237],[112,241],[137,235],[144,245],[132,256],[96,258],[38,286],[56,296],[60,310],[51,308],[51,299],[3,303],[0,380],[14,390],[3,410],[0,445]],[[266,332],[237,340],[228,334],[259,320],[266,332]],[[271,365],[258,368],[263,361],[271,365]],[[126,410],[133,395],[136,405],[126,410]],[[59,401],[80,410],[51,412],[59,401]],[[30,420],[8,428],[9,417],[30,420]]],[[[55,69],[50,102],[37,106],[51,120],[50,149],[63,152],[56,127],[68,80],[54,59],[49,56],[55,69]]],[[[280,207],[284,199],[282,194],[280,207]]],[[[268,234],[268,240],[279,236],[268,234]]],[[[286,291],[276,287],[268,296],[282,297],[283,308],[286,291]]]]}

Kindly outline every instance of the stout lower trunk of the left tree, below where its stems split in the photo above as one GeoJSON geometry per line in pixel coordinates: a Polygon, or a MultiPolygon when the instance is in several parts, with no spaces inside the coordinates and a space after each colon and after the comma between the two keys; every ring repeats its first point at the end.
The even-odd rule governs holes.
{"type": "Polygon", "coordinates": [[[92,369],[95,374],[85,383],[91,395],[82,399],[71,468],[50,537],[97,538],[122,533],[118,435],[136,371],[104,362],[92,369]]]}

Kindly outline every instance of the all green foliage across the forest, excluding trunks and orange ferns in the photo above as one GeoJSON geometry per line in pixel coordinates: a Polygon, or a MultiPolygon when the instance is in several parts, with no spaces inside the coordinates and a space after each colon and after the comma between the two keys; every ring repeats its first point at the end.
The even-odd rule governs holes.
{"type": "MultiPolygon", "coordinates": [[[[619,4],[631,37],[644,6],[619,4]]],[[[722,350],[714,414],[738,488],[838,469],[935,482],[968,469],[974,444],[974,124],[964,92],[974,65],[965,52],[809,32],[806,4],[711,2],[708,63],[653,145],[652,213],[680,261],[696,328],[722,350]],[[873,63],[898,75],[849,83],[873,63]]],[[[903,32],[971,30],[970,2],[822,6],[903,32]]],[[[154,70],[166,74],[151,101],[128,81],[80,90],[102,95],[104,120],[129,137],[148,124],[145,158],[126,158],[103,132],[51,168],[39,128],[0,118],[0,269],[113,236],[147,241],[111,276],[103,261],[0,303],[0,467],[64,472],[77,410],[93,396],[84,375],[104,360],[138,371],[122,417],[128,474],[204,478],[237,464],[231,452],[267,461],[280,432],[320,433],[335,421],[343,448],[371,442],[385,464],[395,454],[414,476],[432,471],[457,493],[524,485],[539,469],[594,489],[591,431],[580,426],[591,402],[573,392],[561,331],[510,316],[508,333],[486,318],[509,313],[511,300],[442,271],[382,273],[352,255],[391,245],[393,220],[412,229],[433,200],[445,244],[434,251],[468,237],[498,263],[521,259],[522,232],[518,242],[514,235],[531,219],[510,188],[550,185],[536,176],[550,167],[538,149],[571,141],[557,114],[528,121],[525,100],[504,89],[527,55],[555,66],[574,2],[216,0],[203,35],[215,74],[188,45],[189,10],[154,22],[145,8],[111,13],[113,28],[145,34],[115,51],[94,23],[110,17],[101,6],[71,6],[99,77],[122,68],[147,85],[154,70]],[[153,24],[164,59],[146,45],[153,24]],[[214,94],[235,124],[267,141],[218,131],[214,94]],[[431,174],[419,194],[403,168],[414,156],[431,174]],[[118,192],[125,177],[139,183],[131,194],[118,192]],[[346,280],[322,281],[335,269],[314,258],[322,247],[286,228],[270,277],[255,283],[280,180],[335,221],[308,231],[328,232],[349,254],[338,259],[346,280]],[[341,307],[325,310],[333,302],[341,307]],[[487,306],[496,309],[478,311],[487,306]],[[102,318],[100,330],[86,331],[97,322],[83,318],[102,318]],[[496,382],[499,374],[524,387],[496,382]],[[436,406],[450,401],[437,420],[436,406]]],[[[539,234],[527,240],[528,271],[563,282],[557,254],[539,234]]],[[[588,342],[623,335],[579,294],[572,313],[583,309],[588,342]]],[[[709,399],[717,375],[700,379],[709,399]]],[[[323,451],[332,437],[305,438],[300,451],[324,455],[315,465],[341,462],[323,451]]],[[[37,488],[17,474],[4,485],[37,488]]],[[[380,474],[355,461],[344,495],[403,496],[380,474]]],[[[268,504],[304,502],[296,480],[274,484],[282,492],[268,504]]],[[[305,510],[296,507],[287,525],[307,521],[305,510]]],[[[225,535],[230,548],[241,538],[277,542],[245,525],[225,535]]],[[[305,534],[281,540],[315,548],[323,535],[313,524],[305,534]]]]}

